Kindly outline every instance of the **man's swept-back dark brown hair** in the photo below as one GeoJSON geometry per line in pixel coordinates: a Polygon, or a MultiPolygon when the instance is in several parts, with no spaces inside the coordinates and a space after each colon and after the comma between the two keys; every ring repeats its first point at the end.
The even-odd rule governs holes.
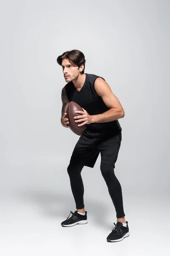
{"type": "Polygon", "coordinates": [[[76,64],[78,67],[81,65],[84,65],[84,69],[82,70],[82,74],[85,72],[85,55],[80,52],[79,50],[71,50],[71,51],[66,51],[63,52],[62,55],[59,55],[57,58],[57,63],[61,66],[62,65],[62,60],[64,58],[68,58],[71,60],[74,64],[76,64]]]}

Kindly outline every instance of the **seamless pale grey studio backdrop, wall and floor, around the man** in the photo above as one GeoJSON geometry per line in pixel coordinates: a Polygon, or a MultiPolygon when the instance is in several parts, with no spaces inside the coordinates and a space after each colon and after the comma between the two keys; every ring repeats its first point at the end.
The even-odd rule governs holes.
{"type": "Polygon", "coordinates": [[[122,255],[164,247],[168,255],[170,1],[1,0],[0,28],[3,255],[56,255],[62,246],[74,255],[76,239],[83,255],[113,247],[122,255]],[[75,210],[67,166],[79,137],[60,124],[66,83],[56,59],[71,49],[85,54],[85,73],[105,78],[125,110],[115,174],[131,233],[116,244],[105,241],[116,212],[100,156],[82,171],[91,224],[60,227],[75,210]]]}

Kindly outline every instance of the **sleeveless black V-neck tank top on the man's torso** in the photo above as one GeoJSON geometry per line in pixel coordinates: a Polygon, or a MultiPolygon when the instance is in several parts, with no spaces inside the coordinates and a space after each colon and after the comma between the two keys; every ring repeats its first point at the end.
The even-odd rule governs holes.
{"type": "MultiPolygon", "coordinates": [[[[101,76],[96,76],[87,73],[85,74],[85,83],[83,84],[80,91],[78,91],[74,87],[74,83],[72,81],[66,84],[65,90],[68,100],[79,104],[88,112],[89,115],[97,115],[104,113],[105,111],[108,111],[109,108],[105,105],[105,103],[102,100],[102,97],[96,93],[96,90],[94,88],[95,80],[101,76]]],[[[89,125],[86,125],[86,129],[91,131],[107,130],[113,131],[113,133],[122,131],[122,128],[118,120],[114,120],[111,122],[91,123],[89,125]]]]}

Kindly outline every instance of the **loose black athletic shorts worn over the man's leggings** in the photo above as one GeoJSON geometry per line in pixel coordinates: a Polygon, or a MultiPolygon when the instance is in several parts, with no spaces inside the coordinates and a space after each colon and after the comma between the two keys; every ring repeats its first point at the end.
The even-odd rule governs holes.
{"type": "Polygon", "coordinates": [[[121,131],[115,134],[113,131],[85,129],[75,145],[70,162],[81,162],[82,165],[93,168],[100,153],[101,163],[110,164],[115,168],[121,141],[121,131]]]}

